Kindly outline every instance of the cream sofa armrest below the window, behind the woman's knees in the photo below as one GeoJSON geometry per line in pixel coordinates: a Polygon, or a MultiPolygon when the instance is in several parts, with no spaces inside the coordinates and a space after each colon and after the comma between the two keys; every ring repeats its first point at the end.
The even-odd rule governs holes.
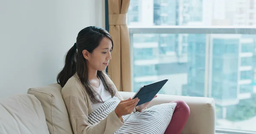
{"type": "MultiPolygon", "coordinates": [[[[119,92],[124,98],[133,97],[135,92],[119,92]]],[[[189,120],[182,134],[215,134],[215,102],[212,98],[157,94],[148,107],[183,100],[190,108],[189,120]]]]}

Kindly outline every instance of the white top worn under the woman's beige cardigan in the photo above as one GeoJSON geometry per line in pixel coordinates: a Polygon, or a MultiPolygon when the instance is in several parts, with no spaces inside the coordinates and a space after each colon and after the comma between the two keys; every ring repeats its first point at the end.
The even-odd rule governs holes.
{"type": "MultiPolygon", "coordinates": [[[[96,88],[94,87],[94,89],[96,89],[100,95],[100,97],[102,98],[103,101],[107,101],[109,99],[111,99],[111,94],[110,92],[108,92],[105,88],[104,88],[104,85],[101,81],[101,79],[99,79],[100,81],[100,84],[99,84],[99,87],[96,88]]],[[[92,104],[92,107],[93,107],[93,111],[95,111],[96,109],[98,109],[103,103],[91,103],[92,104]]]]}

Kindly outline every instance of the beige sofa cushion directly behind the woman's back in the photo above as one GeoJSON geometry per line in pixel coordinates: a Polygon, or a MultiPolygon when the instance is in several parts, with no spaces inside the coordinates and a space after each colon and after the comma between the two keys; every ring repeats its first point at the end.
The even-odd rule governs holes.
{"type": "Polygon", "coordinates": [[[50,134],[73,134],[59,84],[31,88],[28,93],[42,103],[50,134]]]}

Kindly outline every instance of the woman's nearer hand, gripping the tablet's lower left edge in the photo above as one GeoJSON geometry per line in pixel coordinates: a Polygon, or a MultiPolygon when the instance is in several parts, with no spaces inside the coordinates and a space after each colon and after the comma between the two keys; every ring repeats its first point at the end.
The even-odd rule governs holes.
{"type": "Polygon", "coordinates": [[[128,98],[127,100],[121,100],[115,109],[117,117],[121,119],[123,115],[131,114],[139,101],[140,99],[138,98],[132,100],[131,98],[128,98]]]}

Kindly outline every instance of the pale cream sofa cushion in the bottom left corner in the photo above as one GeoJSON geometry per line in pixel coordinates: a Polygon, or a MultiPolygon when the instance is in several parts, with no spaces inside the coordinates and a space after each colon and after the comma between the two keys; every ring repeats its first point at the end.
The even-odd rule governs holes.
{"type": "Polygon", "coordinates": [[[0,134],[49,134],[40,101],[28,94],[0,100],[0,134]]]}

